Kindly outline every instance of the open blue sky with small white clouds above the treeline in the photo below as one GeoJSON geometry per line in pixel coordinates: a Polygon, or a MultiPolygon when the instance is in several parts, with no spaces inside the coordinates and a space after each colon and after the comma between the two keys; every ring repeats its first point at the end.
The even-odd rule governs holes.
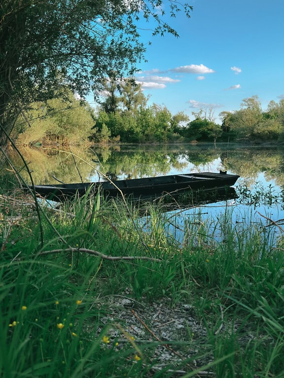
{"type": "MultiPolygon", "coordinates": [[[[177,30],[151,36],[141,72],[149,104],[164,104],[172,113],[213,107],[240,108],[242,99],[258,95],[262,108],[284,98],[284,0],[188,0],[191,18],[181,12],[165,21],[177,30]]],[[[141,22],[141,28],[151,24],[141,22]]]]}

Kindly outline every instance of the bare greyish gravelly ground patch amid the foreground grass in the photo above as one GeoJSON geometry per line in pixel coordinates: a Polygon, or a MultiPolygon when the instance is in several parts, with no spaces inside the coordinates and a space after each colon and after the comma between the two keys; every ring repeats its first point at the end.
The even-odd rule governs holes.
{"type": "MultiPolygon", "coordinates": [[[[180,304],[171,308],[167,300],[146,304],[123,295],[100,298],[96,305],[109,314],[100,318],[101,323],[120,325],[111,326],[108,330],[110,344],[118,341],[119,347],[123,347],[125,343],[131,342],[130,339],[135,338],[133,343],[142,350],[152,372],[167,367],[171,369],[172,377],[178,377],[195,369],[202,369],[214,361],[208,330],[190,305],[180,304]]],[[[233,332],[238,330],[240,324],[241,322],[235,321],[233,332]]],[[[211,326],[210,323],[207,325],[211,326]]],[[[230,329],[230,324],[221,322],[219,328],[213,328],[212,333],[221,337],[222,334],[232,332],[230,329]]],[[[246,331],[238,339],[245,347],[253,337],[252,333],[246,331]]],[[[215,377],[215,374],[209,368],[195,375],[204,376],[215,377]]]]}

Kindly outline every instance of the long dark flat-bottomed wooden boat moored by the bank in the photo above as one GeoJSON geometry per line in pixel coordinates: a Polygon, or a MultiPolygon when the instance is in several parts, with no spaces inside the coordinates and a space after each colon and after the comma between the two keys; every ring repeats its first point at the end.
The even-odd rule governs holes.
{"type": "MultiPolygon", "coordinates": [[[[186,173],[113,182],[35,185],[35,189],[39,196],[54,201],[63,201],[72,196],[80,197],[86,192],[97,193],[99,190],[104,196],[131,195],[135,198],[143,198],[143,196],[157,196],[165,192],[179,193],[188,190],[231,187],[239,177],[238,175],[227,174],[226,171],[220,171],[220,173],[186,173]]],[[[32,189],[32,186],[30,188],[32,189]]]]}

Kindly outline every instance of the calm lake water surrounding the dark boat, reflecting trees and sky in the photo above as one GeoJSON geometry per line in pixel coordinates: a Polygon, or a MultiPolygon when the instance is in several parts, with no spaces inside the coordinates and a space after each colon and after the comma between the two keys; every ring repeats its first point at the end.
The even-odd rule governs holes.
{"type": "MultiPolygon", "coordinates": [[[[236,184],[237,192],[250,193],[250,197],[240,195],[237,200],[214,203],[206,208],[199,207],[198,210],[186,210],[188,214],[200,211],[216,218],[221,216],[226,206],[230,206],[234,213],[233,219],[237,222],[262,219],[267,223],[257,212],[274,221],[284,219],[280,198],[284,186],[284,147],[281,146],[241,147],[223,144],[214,148],[213,145],[189,144],[123,145],[88,150],[71,148],[72,155],[70,150],[43,148],[23,149],[21,152],[33,170],[35,184],[56,184],[52,176],[65,183],[80,182],[81,178],[83,181],[97,181],[99,177],[102,179],[99,172],[111,179],[124,179],[227,170],[228,173],[241,176],[236,184]],[[263,192],[264,195],[261,195],[263,192]],[[252,197],[254,205],[249,205],[252,197]]],[[[23,166],[16,155],[12,159],[18,168],[23,166]]],[[[183,213],[181,219],[184,216],[183,213]]]]}

